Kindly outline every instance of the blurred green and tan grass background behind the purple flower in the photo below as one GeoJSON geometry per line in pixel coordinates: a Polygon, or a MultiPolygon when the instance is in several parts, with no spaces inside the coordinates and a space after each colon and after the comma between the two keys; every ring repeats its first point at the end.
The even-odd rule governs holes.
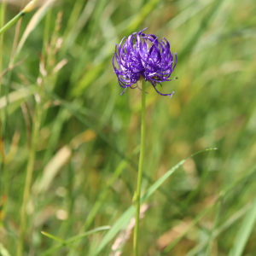
{"type": "MultiPolygon", "coordinates": [[[[2,26],[27,3],[7,2],[2,26]]],[[[112,57],[145,27],[177,52],[178,79],[158,88],[172,99],[147,86],[143,194],[190,154],[218,150],[148,198],[140,254],[255,255],[255,24],[253,0],[48,0],[5,32],[0,255],[15,255],[20,230],[22,255],[132,255],[121,217],[136,189],[142,92],[120,96],[112,57]],[[102,225],[115,230],[52,253],[60,243],[40,233],[67,240],[102,225]]]]}

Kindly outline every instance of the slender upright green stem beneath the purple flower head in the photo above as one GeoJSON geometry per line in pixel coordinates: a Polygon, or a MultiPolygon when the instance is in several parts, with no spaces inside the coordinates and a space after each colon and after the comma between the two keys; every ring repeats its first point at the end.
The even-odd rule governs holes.
{"type": "Polygon", "coordinates": [[[134,228],[133,236],[133,250],[134,255],[138,256],[138,231],[140,222],[140,207],[141,207],[141,186],[143,180],[143,161],[144,161],[144,151],[145,151],[145,133],[146,133],[146,81],[142,81],[143,91],[142,91],[142,127],[141,127],[141,152],[139,159],[139,167],[137,174],[137,191],[136,191],[136,222],[134,228]]]}

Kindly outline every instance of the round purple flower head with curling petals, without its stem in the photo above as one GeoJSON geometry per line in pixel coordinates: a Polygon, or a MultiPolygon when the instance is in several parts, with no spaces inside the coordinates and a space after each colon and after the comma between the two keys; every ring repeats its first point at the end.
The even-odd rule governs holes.
{"type": "Polygon", "coordinates": [[[172,97],[174,91],[170,94],[162,94],[156,89],[156,84],[172,80],[170,76],[177,63],[177,54],[174,54],[174,61],[174,55],[171,53],[170,44],[166,38],[158,40],[153,34],[144,34],[143,31],[146,29],[131,34],[126,39],[125,44],[123,44],[125,38],[121,40],[119,45],[116,44],[113,53],[114,73],[119,79],[120,86],[125,90],[128,87],[137,88],[137,86],[132,87],[132,84],[137,84],[139,79],[145,79],[153,85],[154,90],[160,95],[172,97]],[[114,66],[114,59],[118,68],[114,66]]]}

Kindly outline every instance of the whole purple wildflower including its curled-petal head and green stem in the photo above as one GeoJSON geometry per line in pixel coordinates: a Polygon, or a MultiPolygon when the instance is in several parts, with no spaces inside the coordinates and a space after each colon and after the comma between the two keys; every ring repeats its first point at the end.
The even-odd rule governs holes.
{"type": "Polygon", "coordinates": [[[145,34],[144,31],[146,29],[144,28],[140,32],[132,33],[126,40],[123,38],[120,44],[116,44],[115,51],[113,52],[113,73],[116,74],[119,85],[123,88],[121,95],[128,88],[136,89],[138,88],[137,83],[142,83],[141,151],[137,190],[132,199],[132,203],[136,207],[136,223],[133,236],[134,256],[138,256],[141,186],[146,132],[146,82],[148,81],[152,84],[154,90],[159,95],[172,97],[174,91],[164,94],[156,86],[159,84],[162,86],[161,83],[173,80],[171,75],[177,64],[177,54],[172,54],[170,44],[166,38],[160,40],[154,34],[145,34]]]}

